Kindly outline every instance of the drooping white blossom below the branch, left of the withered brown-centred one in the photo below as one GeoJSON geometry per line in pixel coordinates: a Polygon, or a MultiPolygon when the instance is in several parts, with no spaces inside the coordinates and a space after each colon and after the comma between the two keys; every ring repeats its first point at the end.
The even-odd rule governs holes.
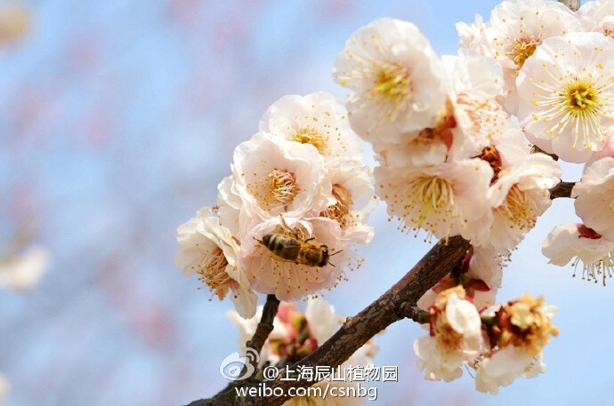
{"type": "Polygon", "coordinates": [[[461,286],[440,292],[429,313],[430,335],[414,341],[418,368],[430,380],[460,378],[461,367],[483,350],[480,314],[461,286]]]}

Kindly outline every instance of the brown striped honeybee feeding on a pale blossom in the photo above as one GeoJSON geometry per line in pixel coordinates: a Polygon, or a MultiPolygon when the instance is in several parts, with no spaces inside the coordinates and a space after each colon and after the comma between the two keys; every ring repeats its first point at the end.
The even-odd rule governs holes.
{"type": "MultiPolygon", "coordinates": [[[[280,259],[302,264],[308,267],[326,267],[328,259],[334,254],[328,252],[326,244],[316,243],[314,237],[304,239],[303,233],[287,227],[286,221],[281,217],[282,233],[271,233],[263,236],[262,243],[269,251],[280,259]]],[[[333,264],[331,266],[335,267],[333,264]]]]}

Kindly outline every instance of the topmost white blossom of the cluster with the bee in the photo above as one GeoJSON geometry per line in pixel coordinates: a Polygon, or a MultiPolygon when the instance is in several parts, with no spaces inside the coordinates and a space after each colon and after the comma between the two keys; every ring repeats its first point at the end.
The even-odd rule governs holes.
{"type": "Polygon", "coordinates": [[[362,141],[351,130],[345,107],[327,92],[282,97],[264,113],[259,130],[311,145],[325,160],[362,156],[362,141]]]}

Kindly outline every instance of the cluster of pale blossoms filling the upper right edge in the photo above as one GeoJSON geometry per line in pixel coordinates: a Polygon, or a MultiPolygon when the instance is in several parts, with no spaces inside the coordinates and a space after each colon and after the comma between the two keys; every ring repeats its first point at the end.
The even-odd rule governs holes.
{"type": "MultiPolygon", "coordinates": [[[[585,163],[572,191],[583,223],[555,227],[543,252],[559,266],[582,263],[583,279],[614,270],[614,1],[578,12],[543,0],[504,2],[488,23],[457,25],[464,48],[504,69],[505,109],[527,138],[570,163],[585,163]]],[[[575,275],[575,273],[574,273],[575,275]]]]}

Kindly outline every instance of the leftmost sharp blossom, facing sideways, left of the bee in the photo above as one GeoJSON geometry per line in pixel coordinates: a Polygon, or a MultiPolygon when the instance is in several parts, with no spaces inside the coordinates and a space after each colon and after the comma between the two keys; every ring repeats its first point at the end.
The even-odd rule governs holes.
{"type": "Polygon", "coordinates": [[[177,228],[177,243],[180,251],[174,265],[182,268],[183,275],[198,275],[220,300],[231,291],[238,314],[245,318],[254,315],[258,298],[240,267],[241,249],[210,208],[198,210],[196,217],[177,228]]]}

